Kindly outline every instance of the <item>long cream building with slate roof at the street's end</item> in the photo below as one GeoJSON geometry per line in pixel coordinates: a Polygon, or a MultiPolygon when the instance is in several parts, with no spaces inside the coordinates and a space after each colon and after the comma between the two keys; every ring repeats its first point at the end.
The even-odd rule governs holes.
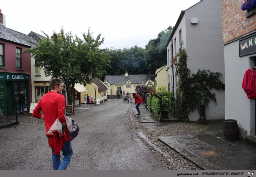
{"type": "Polygon", "coordinates": [[[116,95],[119,93],[127,92],[135,93],[135,87],[137,85],[145,84],[147,86],[154,86],[153,74],[137,74],[129,75],[127,72],[124,75],[106,75],[104,84],[107,86],[107,95],[116,95]]]}

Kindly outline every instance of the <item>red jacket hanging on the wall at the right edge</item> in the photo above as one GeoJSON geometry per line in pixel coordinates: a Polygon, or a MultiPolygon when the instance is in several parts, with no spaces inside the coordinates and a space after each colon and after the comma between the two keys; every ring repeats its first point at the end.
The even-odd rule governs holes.
{"type": "Polygon", "coordinates": [[[248,69],[244,73],[242,88],[248,98],[256,98],[256,70],[248,69]]]}

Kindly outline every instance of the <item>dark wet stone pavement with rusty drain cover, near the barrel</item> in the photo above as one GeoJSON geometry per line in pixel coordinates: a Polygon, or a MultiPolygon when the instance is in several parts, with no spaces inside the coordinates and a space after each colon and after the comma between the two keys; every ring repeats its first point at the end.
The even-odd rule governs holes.
{"type": "Polygon", "coordinates": [[[205,170],[251,170],[256,166],[256,146],[239,138],[226,139],[223,130],[159,140],[205,170]]]}

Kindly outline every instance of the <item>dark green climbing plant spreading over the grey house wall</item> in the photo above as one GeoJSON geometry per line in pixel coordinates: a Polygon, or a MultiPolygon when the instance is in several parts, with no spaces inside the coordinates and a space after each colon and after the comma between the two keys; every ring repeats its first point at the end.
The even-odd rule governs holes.
{"type": "Polygon", "coordinates": [[[190,69],[187,68],[187,52],[180,45],[177,54],[176,75],[179,78],[177,83],[176,102],[178,119],[188,119],[188,115],[194,109],[200,111],[200,102],[204,100],[208,106],[211,100],[217,100],[215,93],[211,89],[225,89],[225,84],[219,80],[222,76],[219,72],[211,72],[210,70],[200,70],[196,74],[191,74],[190,69]]]}

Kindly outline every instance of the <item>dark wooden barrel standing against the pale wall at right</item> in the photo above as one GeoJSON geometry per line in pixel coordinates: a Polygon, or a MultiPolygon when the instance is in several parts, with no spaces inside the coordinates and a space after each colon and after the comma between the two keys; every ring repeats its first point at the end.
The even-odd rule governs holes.
{"type": "Polygon", "coordinates": [[[233,120],[233,119],[224,120],[223,133],[226,139],[236,139],[238,137],[238,125],[236,120],[233,120]]]}

